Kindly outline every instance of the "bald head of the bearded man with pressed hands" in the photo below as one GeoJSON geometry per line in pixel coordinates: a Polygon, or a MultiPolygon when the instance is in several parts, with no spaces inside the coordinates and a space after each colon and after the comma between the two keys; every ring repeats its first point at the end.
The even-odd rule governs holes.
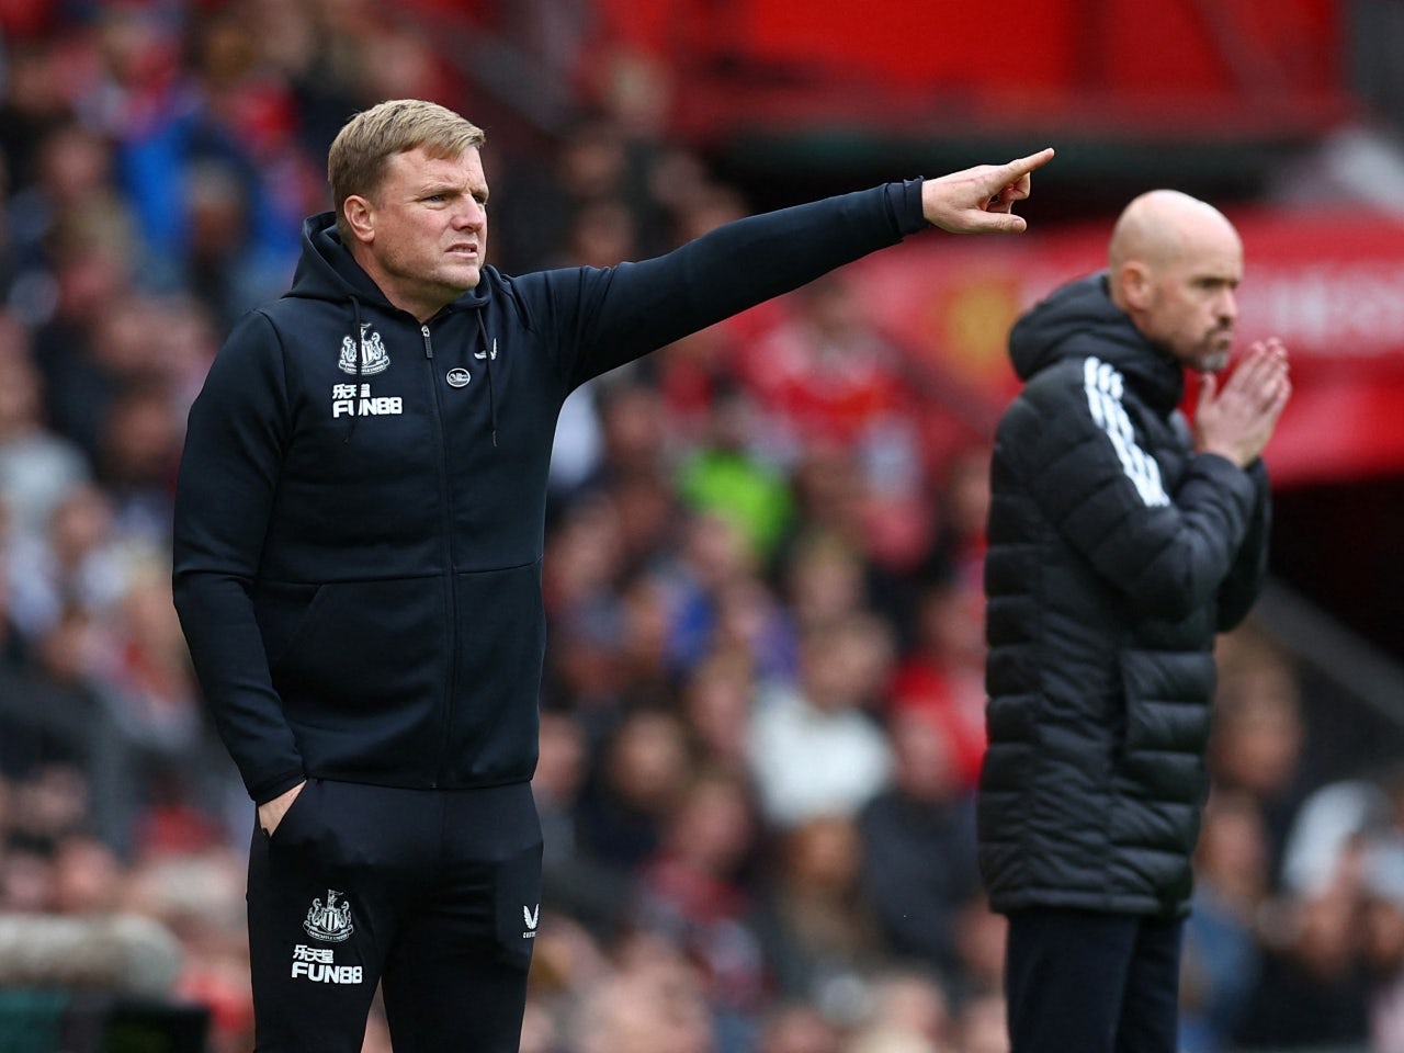
{"type": "Polygon", "coordinates": [[[1227,365],[1243,241],[1223,212],[1153,190],[1122,212],[1106,256],[1112,302],[1147,341],[1193,369],[1227,365]]]}

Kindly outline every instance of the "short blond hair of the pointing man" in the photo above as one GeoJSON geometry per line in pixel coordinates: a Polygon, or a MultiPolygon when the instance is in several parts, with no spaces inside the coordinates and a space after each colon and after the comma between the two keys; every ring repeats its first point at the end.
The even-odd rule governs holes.
{"type": "Polygon", "coordinates": [[[341,239],[351,243],[345,199],[379,190],[390,157],[416,147],[431,157],[458,157],[486,140],[487,133],[473,122],[420,98],[392,98],[352,117],[327,152],[327,183],[341,239]]]}

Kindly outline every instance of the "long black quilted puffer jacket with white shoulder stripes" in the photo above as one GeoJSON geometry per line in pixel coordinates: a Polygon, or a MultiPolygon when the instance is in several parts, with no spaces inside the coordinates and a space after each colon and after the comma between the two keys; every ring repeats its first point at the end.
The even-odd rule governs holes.
{"type": "Polygon", "coordinates": [[[1214,633],[1266,571],[1268,480],[1192,451],[1181,366],[1063,286],[1009,338],[993,463],[980,866],[1000,911],[1178,914],[1206,792],[1214,633]]]}

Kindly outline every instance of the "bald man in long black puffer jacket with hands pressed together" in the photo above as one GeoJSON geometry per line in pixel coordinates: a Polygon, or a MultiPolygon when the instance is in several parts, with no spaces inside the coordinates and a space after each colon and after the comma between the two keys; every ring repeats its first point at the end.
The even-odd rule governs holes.
{"type": "Polygon", "coordinates": [[[1212,649],[1266,573],[1259,455],[1292,392],[1276,340],[1219,380],[1243,271],[1223,213],[1151,191],[1106,270],[1009,334],[1024,389],[991,472],[979,840],[1009,918],[1014,1053],[1177,1049],[1212,649]]]}

